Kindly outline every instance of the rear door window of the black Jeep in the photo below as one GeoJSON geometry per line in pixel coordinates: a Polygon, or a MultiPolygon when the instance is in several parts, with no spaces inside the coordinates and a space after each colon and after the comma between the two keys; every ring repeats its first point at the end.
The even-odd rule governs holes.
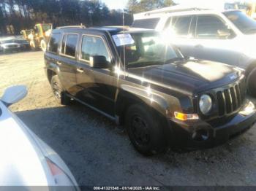
{"type": "Polygon", "coordinates": [[[75,57],[78,34],[65,34],[61,43],[61,54],[75,57]]]}

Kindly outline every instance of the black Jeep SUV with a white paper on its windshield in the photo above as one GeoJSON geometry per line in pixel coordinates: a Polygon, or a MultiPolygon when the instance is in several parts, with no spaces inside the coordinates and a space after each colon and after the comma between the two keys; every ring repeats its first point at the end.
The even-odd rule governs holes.
{"type": "Polygon", "coordinates": [[[255,123],[243,70],[184,58],[155,31],[57,28],[45,65],[60,104],[76,100],[124,124],[144,155],[213,147],[255,123]]]}

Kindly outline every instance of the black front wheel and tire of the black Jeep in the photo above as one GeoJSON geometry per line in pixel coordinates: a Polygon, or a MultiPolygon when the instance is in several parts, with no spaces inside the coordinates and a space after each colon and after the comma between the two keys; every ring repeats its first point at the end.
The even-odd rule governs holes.
{"type": "Polygon", "coordinates": [[[162,122],[157,114],[149,112],[145,106],[129,106],[125,126],[132,145],[142,155],[150,156],[166,151],[167,142],[162,122]]]}

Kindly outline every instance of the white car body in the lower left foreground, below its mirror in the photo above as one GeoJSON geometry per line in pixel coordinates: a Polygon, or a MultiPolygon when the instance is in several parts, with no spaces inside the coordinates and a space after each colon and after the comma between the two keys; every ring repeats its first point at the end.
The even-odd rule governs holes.
{"type": "Polygon", "coordinates": [[[77,185],[59,155],[40,140],[0,101],[0,186],[56,185],[48,157],[77,185]]]}

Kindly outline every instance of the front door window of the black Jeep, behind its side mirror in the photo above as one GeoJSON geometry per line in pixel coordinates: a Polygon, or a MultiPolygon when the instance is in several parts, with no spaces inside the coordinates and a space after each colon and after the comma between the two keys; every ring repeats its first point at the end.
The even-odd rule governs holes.
{"type": "Polygon", "coordinates": [[[102,55],[110,62],[110,55],[103,39],[95,36],[83,36],[81,59],[90,60],[90,56],[102,55]]]}

